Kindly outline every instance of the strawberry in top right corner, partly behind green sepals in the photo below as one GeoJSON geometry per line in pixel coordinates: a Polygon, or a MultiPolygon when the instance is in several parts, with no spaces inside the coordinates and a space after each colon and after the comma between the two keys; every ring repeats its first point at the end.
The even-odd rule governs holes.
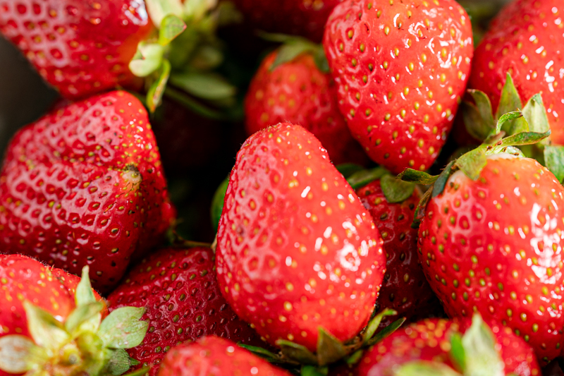
{"type": "MultiPolygon", "coordinates": [[[[488,95],[498,107],[506,74],[510,73],[523,104],[542,92],[551,124],[551,140],[564,143],[564,87],[560,85],[564,64],[560,59],[564,36],[557,0],[517,0],[505,6],[491,23],[472,63],[470,87],[488,95]]],[[[515,111],[515,109],[511,109],[515,111]]]]}

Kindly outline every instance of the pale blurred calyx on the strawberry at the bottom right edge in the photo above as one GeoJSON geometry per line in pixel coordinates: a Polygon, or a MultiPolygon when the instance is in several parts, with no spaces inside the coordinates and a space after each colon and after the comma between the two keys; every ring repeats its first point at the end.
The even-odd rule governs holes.
{"type": "Polygon", "coordinates": [[[455,369],[444,363],[417,360],[406,363],[396,376],[503,376],[505,364],[496,351],[491,329],[479,314],[472,317],[472,326],[464,335],[450,337],[450,361],[455,369]]]}

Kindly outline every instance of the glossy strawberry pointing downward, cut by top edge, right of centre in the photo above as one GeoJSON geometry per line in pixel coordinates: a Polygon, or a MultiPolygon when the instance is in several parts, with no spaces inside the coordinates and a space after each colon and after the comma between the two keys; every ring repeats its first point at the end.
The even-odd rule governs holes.
{"type": "Polygon", "coordinates": [[[472,60],[470,20],[454,0],[346,0],[324,48],[341,113],[375,162],[424,171],[446,142],[472,60]]]}

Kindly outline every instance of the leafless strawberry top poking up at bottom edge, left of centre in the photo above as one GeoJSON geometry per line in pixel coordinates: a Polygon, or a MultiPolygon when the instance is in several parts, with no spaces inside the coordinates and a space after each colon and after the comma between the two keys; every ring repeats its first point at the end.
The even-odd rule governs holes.
{"type": "Polygon", "coordinates": [[[215,336],[172,348],[159,376],[290,376],[233,342],[215,336]]]}

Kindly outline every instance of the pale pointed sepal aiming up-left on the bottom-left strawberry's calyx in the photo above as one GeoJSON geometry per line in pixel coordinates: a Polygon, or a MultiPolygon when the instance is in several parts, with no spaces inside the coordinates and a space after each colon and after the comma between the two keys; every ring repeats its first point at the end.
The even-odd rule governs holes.
{"type": "Polygon", "coordinates": [[[27,329],[37,346],[55,351],[70,339],[63,324],[57,321],[51,313],[29,301],[23,302],[23,308],[27,317],[27,329]]]}

